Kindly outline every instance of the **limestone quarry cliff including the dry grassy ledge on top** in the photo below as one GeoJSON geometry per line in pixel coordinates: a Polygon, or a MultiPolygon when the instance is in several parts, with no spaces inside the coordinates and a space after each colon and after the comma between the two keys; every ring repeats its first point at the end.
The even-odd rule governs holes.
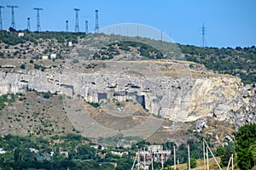
{"type": "MultiPolygon", "coordinates": [[[[180,73],[179,66],[186,64],[166,60],[90,61],[92,64],[97,66],[76,70],[72,67],[79,68],[78,65],[67,61],[62,71],[2,71],[0,94],[35,90],[79,95],[87,102],[99,104],[112,99],[132,100],[149,113],[175,122],[190,122],[205,116],[224,121],[234,119],[233,112],[241,107],[246,107],[246,111],[253,107],[255,88],[244,87],[238,77],[213,73],[199,76],[192,69],[188,70],[190,75],[180,73]],[[172,72],[172,76],[167,72],[172,72]]],[[[251,121],[255,121],[255,113],[248,117],[247,122],[251,121]]]]}

